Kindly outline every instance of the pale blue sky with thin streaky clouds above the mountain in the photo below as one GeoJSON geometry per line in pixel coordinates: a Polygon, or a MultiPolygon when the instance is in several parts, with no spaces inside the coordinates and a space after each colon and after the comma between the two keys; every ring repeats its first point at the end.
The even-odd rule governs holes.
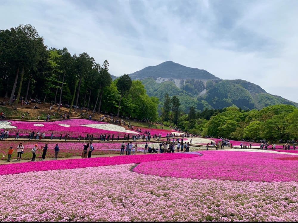
{"type": "Polygon", "coordinates": [[[171,60],[298,102],[296,0],[0,0],[0,29],[105,59],[115,76],[171,60]]]}

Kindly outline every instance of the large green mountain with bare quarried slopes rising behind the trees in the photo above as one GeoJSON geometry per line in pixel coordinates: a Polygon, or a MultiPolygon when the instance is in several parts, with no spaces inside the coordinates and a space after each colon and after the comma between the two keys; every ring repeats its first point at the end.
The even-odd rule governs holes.
{"type": "Polygon", "coordinates": [[[223,80],[206,70],[186,67],[172,61],[145,67],[129,76],[141,80],[147,94],[159,98],[160,107],[166,93],[170,96],[177,95],[184,112],[188,112],[191,106],[200,111],[229,106],[262,109],[276,104],[298,107],[298,103],[268,94],[257,84],[240,79],[223,80]]]}

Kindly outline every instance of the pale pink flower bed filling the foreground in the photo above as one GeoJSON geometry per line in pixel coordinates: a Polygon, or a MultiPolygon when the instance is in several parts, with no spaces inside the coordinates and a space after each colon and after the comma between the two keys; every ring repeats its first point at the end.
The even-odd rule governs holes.
{"type": "Polygon", "coordinates": [[[159,177],[132,166],[0,176],[0,221],[298,220],[297,182],[159,177]]]}

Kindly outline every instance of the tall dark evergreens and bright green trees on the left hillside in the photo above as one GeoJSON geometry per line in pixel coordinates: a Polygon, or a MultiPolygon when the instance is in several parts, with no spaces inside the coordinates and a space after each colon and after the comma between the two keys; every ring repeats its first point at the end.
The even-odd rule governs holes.
{"type": "Polygon", "coordinates": [[[67,105],[69,113],[83,107],[155,121],[158,98],[149,97],[142,83],[126,74],[113,81],[108,70],[107,60],[100,65],[86,52],[48,49],[30,24],[0,29],[0,93],[15,109],[20,97],[39,98],[67,105]]]}

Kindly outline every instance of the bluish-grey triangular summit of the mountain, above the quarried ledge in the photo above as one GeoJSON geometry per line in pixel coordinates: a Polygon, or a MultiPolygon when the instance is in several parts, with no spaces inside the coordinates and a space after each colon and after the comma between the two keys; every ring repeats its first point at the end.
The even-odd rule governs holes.
{"type": "Polygon", "coordinates": [[[176,78],[176,79],[197,79],[197,80],[219,80],[206,70],[186,67],[173,61],[165,61],[156,66],[145,67],[142,70],[129,74],[133,79],[146,77],[176,78]]]}

